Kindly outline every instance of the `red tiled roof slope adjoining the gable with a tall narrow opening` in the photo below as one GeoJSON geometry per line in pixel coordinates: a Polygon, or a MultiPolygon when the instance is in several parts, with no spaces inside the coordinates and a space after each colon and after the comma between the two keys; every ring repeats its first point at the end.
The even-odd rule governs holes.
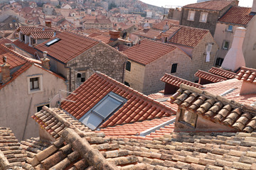
{"type": "Polygon", "coordinates": [[[182,26],[169,42],[195,47],[207,33],[210,33],[209,30],[182,26]]]}

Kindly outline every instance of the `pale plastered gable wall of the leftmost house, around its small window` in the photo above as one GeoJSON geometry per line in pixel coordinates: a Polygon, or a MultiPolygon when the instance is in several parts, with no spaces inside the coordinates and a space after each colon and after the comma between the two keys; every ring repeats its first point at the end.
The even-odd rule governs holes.
{"type": "Polygon", "coordinates": [[[36,66],[30,67],[0,89],[0,126],[10,127],[18,140],[38,137],[38,125],[31,115],[36,113],[37,106],[49,103],[48,98],[58,94],[59,89],[67,89],[63,79],[36,66]],[[28,94],[28,76],[32,75],[42,75],[43,91],[28,94]],[[26,118],[28,118],[27,125],[26,118]]]}

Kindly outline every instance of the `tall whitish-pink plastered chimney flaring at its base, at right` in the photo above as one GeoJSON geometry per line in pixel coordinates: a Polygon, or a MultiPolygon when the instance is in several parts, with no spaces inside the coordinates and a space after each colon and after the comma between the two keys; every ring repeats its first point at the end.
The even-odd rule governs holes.
{"type": "Polygon", "coordinates": [[[246,28],[236,28],[232,46],[230,50],[228,50],[223,64],[221,65],[223,69],[228,69],[235,72],[235,70],[239,69],[240,67],[245,67],[245,57],[242,53],[242,43],[245,39],[245,31],[246,28]]]}

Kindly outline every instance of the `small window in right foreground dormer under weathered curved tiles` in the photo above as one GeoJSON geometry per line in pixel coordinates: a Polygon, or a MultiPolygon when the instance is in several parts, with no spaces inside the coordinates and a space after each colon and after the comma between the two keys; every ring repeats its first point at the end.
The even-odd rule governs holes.
{"type": "Polygon", "coordinates": [[[178,119],[178,121],[186,123],[188,125],[193,126],[193,128],[196,128],[196,120],[198,115],[196,113],[192,113],[190,111],[186,111],[185,109],[181,109],[181,115],[178,119]]]}

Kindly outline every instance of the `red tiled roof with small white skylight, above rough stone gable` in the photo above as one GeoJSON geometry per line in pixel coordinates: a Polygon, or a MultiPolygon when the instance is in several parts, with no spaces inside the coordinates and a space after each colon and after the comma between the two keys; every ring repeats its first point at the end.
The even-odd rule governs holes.
{"type": "Polygon", "coordinates": [[[48,55],[64,63],[67,63],[82,52],[85,52],[90,47],[99,43],[97,40],[92,38],[70,32],[59,33],[54,38],[37,45],[35,48],[42,52],[47,51],[48,55]],[[54,38],[60,38],[60,40],[47,47],[46,43],[50,42],[54,38]]]}

